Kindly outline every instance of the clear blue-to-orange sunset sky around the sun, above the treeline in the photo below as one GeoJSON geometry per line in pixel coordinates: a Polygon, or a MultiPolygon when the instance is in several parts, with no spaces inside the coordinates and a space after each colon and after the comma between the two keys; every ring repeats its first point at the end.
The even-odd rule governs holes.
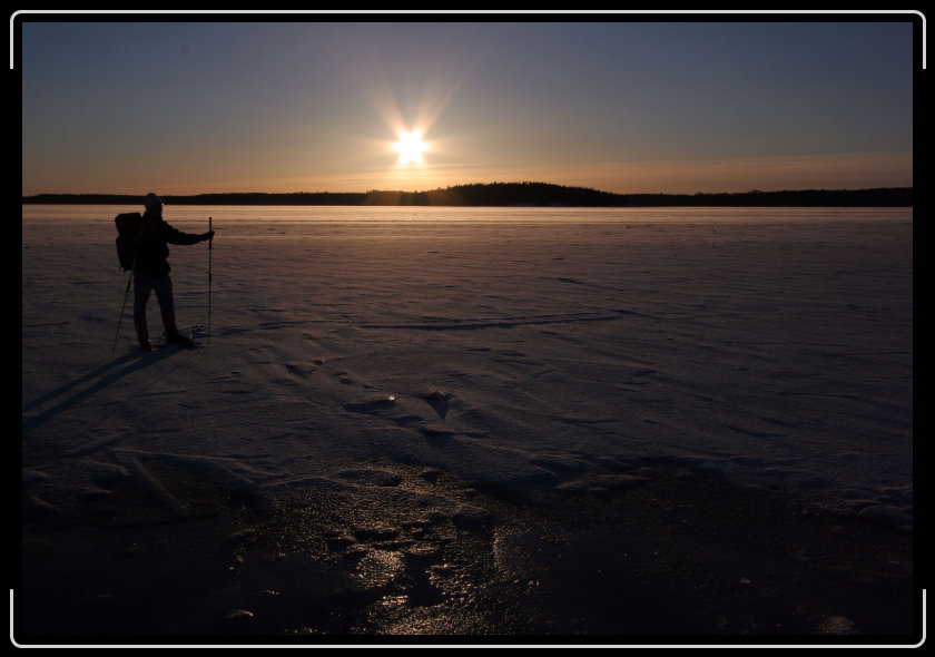
{"type": "Polygon", "coordinates": [[[254,18],[21,16],[22,194],[913,185],[914,14],[254,18]]]}

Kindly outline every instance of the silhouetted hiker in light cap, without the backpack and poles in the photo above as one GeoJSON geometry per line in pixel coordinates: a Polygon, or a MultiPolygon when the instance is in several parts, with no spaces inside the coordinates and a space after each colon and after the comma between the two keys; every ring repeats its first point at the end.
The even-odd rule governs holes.
{"type": "Polygon", "coordinates": [[[146,322],[146,304],[149,295],[156,291],[163,327],[166,330],[166,342],[183,349],[191,346],[191,340],[181,335],[176,326],[168,245],[206,242],[214,237],[214,231],[193,234],[173,228],[163,218],[163,199],[151,192],[146,195],[142,205],[146,212],[142,215],[141,238],[134,269],[134,327],[137,341],[145,351],[152,351],[146,322]]]}

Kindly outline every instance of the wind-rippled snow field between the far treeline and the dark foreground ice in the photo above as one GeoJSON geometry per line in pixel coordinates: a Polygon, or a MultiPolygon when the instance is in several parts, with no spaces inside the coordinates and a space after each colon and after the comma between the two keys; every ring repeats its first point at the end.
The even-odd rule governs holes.
{"type": "Polygon", "coordinates": [[[912,209],[169,205],[216,238],[171,247],[200,346],[151,354],[131,292],[117,335],[132,209],[23,206],[35,508],[391,461],[561,493],[667,459],[912,524],[912,209]]]}

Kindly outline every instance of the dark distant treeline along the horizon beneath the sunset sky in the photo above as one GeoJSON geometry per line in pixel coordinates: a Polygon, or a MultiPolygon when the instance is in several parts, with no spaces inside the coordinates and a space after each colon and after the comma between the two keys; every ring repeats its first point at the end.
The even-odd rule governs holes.
{"type": "MultiPolygon", "coordinates": [[[[544,207],[913,207],[912,187],[875,189],[805,189],[724,194],[612,194],[585,187],[548,183],[489,183],[456,185],[431,192],[361,193],[258,192],[165,195],[171,205],[405,205],[405,206],[544,206],[544,207]]],[[[23,204],[141,205],[141,195],[37,194],[23,204]]]]}

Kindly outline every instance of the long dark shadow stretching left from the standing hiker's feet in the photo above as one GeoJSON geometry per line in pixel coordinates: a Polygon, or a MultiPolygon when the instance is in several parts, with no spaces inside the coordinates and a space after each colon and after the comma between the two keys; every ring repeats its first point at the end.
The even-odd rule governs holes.
{"type": "Polygon", "coordinates": [[[22,435],[26,435],[62,411],[67,411],[95,393],[114,385],[127,374],[148,367],[156,361],[170,356],[176,351],[178,350],[160,349],[155,352],[139,351],[126,353],[79,376],[75,381],[59,385],[55,390],[24,403],[22,405],[22,435]],[[89,385],[85,386],[85,384],[89,385]],[[53,405],[43,411],[39,411],[35,415],[27,416],[28,412],[32,409],[50,402],[53,402],[53,405]]]}

